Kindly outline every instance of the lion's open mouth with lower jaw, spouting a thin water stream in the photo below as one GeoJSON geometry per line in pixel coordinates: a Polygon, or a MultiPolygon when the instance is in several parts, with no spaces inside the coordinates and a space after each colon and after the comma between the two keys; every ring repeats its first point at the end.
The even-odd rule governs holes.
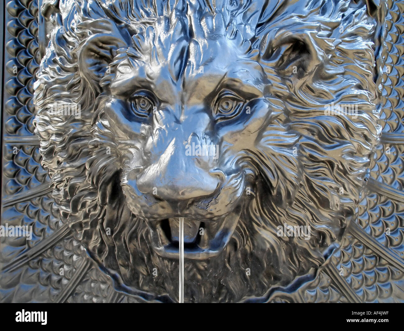
{"type": "MultiPolygon", "coordinates": [[[[240,215],[231,213],[219,221],[184,217],[184,258],[207,259],[226,247],[240,215]]],[[[162,257],[179,258],[179,218],[147,221],[153,249],[162,257]]]]}

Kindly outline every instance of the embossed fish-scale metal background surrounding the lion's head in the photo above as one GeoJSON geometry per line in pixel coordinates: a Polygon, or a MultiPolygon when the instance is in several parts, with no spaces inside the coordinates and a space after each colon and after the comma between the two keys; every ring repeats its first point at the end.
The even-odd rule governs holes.
{"type": "MultiPolygon", "coordinates": [[[[5,6],[1,224],[32,225],[34,235],[32,240],[1,238],[0,301],[137,301],[114,290],[58,219],[32,123],[40,61],[38,1],[5,6]]],[[[389,0],[388,8],[383,134],[358,221],[313,281],[290,295],[274,292],[269,302],[404,301],[404,1],[389,0]]]]}

